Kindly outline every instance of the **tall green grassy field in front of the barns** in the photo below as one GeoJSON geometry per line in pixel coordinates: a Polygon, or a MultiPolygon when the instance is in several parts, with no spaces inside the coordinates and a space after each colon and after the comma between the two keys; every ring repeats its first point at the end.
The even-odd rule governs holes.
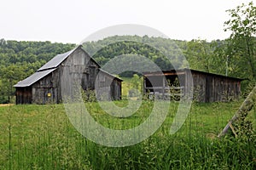
{"type": "MultiPolygon", "coordinates": [[[[126,101],[116,101],[125,106],[126,101]]],[[[87,103],[97,122],[111,128],[135,127],[148,116],[143,101],[129,118],[113,118],[97,103],[87,103]]],[[[111,148],[85,139],[69,122],[63,105],[0,107],[0,169],[255,169],[255,138],[217,139],[241,105],[194,103],[183,127],[169,134],[177,103],[166,121],[142,143],[111,148]]],[[[256,111],[249,119],[255,125],[256,111]]],[[[255,126],[254,126],[255,127],[255,126]]]]}

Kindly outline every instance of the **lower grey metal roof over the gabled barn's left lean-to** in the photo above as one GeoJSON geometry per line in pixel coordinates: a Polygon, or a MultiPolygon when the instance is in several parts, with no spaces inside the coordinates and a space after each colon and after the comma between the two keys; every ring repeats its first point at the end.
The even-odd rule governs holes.
{"type": "Polygon", "coordinates": [[[46,71],[38,71],[35,72],[34,74],[32,74],[30,77],[27,77],[26,79],[18,82],[17,84],[15,84],[15,88],[24,88],[24,87],[29,87],[31,86],[33,83],[38,82],[38,80],[40,80],[43,77],[46,77],[47,75],[49,75],[49,73],[51,73],[52,71],[55,71],[56,69],[49,69],[46,71]]]}

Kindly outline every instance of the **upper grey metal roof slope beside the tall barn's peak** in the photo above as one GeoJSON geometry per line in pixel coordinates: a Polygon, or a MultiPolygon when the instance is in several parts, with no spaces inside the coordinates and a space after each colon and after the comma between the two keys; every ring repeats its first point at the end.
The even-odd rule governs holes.
{"type": "MultiPolygon", "coordinates": [[[[77,48],[80,48],[80,46],[78,46],[77,48]]],[[[50,59],[45,65],[43,65],[41,68],[39,68],[38,71],[52,69],[52,68],[55,68],[55,67],[61,65],[61,63],[65,59],[67,59],[67,57],[70,54],[72,54],[77,48],[73,48],[72,50],[70,50],[64,54],[57,54],[54,58],[50,59]]]]}

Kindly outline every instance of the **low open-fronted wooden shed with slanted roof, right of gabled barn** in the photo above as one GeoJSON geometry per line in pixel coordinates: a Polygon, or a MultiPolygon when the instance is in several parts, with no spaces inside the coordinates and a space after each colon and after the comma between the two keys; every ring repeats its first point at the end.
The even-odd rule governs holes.
{"type": "Polygon", "coordinates": [[[175,95],[180,97],[186,90],[193,88],[193,98],[197,101],[227,101],[230,99],[239,99],[242,80],[240,78],[224,77],[189,69],[144,72],[143,92],[144,94],[149,93],[168,98],[175,95]],[[189,71],[191,71],[193,87],[186,86],[189,81],[189,71]]]}

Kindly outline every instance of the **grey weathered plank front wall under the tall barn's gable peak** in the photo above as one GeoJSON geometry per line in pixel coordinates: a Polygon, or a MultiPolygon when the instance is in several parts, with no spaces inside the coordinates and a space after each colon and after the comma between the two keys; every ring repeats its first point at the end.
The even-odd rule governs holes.
{"type": "MultiPolygon", "coordinates": [[[[84,53],[83,49],[76,50],[60,65],[60,89],[73,99],[76,96],[78,86],[84,90],[94,90],[96,82],[96,74],[99,65],[84,53]]],[[[61,96],[61,94],[59,94],[61,96]]],[[[62,99],[63,96],[61,96],[62,99]]]]}

